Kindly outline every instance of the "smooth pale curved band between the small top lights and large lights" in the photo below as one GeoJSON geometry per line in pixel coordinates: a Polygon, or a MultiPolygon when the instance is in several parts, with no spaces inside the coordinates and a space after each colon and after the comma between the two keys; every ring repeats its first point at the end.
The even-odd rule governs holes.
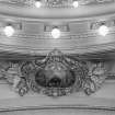
{"type": "Polygon", "coordinates": [[[80,19],[115,13],[115,3],[81,5],[77,9],[35,9],[0,4],[0,14],[30,19],[80,19]]]}

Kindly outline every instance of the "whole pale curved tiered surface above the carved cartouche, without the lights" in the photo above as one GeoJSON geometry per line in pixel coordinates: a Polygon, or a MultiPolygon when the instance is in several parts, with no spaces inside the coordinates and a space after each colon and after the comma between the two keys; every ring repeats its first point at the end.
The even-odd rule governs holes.
{"type": "MultiPolygon", "coordinates": [[[[33,0],[0,1],[1,51],[46,55],[56,48],[66,54],[83,55],[115,49],[114,0],[81,0],[77,9],[56,7],[58,4],[45,7],[47,3],[57,2],[54,0],[42,2],[44,7],[37,9],[33,7],[33,0]],[[100,36],[96,31],[102,23],[111,30],[105,37],[100,36]],[[16,30],[12,37],[2,33],[7,24],[12,24],[16,30]],[[61,31],[58,39],[50,36],[54,26],[61,31]]],[[[72,1],[59,3],[65,2],[70,5],[72,1]]]]}

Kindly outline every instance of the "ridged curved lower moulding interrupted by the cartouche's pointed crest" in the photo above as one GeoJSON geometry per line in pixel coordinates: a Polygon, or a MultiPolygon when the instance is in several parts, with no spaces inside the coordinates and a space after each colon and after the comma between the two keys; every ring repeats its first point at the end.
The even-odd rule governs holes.
{"type": "MultiPolygon", "coordinates": [[[[9,53],[9,54],[23,54],[23,55],[32,55],[32,56],[45,56],[47,55],[53,48],[32,48],[32,47],[19,47],[19,46],[9,46],[5,44],[0,44],[0,51],[9,53]]],[[[111,44],[102,44],[102,45],[92,45],[92,46],[85,46],[85,47],[70,47],[70,48],[58,48],[62,53],[67,55],[78,54],[78,55],[84,55],[84,54],[93,54],[93,53],[100,53],[100,51],[110,51],[115,49],[115,43],[111,44]]]]}

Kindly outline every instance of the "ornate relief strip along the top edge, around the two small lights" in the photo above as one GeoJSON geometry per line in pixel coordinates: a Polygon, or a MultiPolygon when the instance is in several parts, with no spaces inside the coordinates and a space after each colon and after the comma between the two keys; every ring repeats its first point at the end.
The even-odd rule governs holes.
{"type": "MultiPolygon", "coordinates": [[[[1,3],[20,5],[20,7],[33,7],[36,0],[0,0],[1,3]]],[[[115,0],[39,0],[44,8],[72,8],[72,2],[78,1],[80,5],[91,5],[99,3],[112,3],[115,0]]]]}

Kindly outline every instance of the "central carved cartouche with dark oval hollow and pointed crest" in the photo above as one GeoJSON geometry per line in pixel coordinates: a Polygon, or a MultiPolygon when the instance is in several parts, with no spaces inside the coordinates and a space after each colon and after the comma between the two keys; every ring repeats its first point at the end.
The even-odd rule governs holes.
{"type": "Polygon", "coordinates": [[[68,58],[58,49],[50,51],[44,59],[25,62],[21,70],[32,91],[48,96],[62,96],[79,91],[88,74],[84,64],[68,58]]]}

